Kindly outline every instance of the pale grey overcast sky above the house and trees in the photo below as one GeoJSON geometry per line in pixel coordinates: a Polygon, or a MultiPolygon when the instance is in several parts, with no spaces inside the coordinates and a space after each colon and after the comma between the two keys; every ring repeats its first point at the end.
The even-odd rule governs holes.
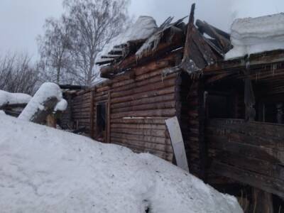
{"type": "MultiPolygon", "coordinates": [[[[130,13],[153,16],[162,23],[168,16],[182,18],[192,0],[132,0],[130,13]]],[[[283,0],[195,0],[195,18],[224,31],[234,18],[284,12],[283,0]]],[[[36,36],[43,33],[45,18],[60,17],[62,0],[0,0],[0,54],[28,52],[37,56],[36,36]]]]}

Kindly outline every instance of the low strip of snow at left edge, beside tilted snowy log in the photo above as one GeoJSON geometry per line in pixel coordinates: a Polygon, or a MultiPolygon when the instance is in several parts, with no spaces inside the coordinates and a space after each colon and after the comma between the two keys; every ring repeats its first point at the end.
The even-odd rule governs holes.
{"type": "Polygon", "coordinates": [[[0,107],[6,104],[28,104],[30,100],[31,95],[0,90],[0,107]]]}

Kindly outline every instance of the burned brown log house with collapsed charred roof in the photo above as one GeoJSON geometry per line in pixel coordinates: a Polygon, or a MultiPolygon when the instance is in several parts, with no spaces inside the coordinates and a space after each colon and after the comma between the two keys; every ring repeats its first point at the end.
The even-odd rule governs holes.
{"type": "Polygon", "coordinates": [[[190,173],[284,198],[284,52],[225,60],[230,35],[193,11],[101,55],[107,80],[65,93],[62,126],[174,162],[165,119],[177,116],[190,173]]]}

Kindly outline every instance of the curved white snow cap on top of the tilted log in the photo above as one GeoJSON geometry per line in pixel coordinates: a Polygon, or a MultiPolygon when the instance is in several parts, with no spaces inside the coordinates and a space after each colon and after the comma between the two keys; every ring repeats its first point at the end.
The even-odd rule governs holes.
{"type": "Polygon", "coordinates": [[[59,105],[56,106],[55,109],[60,111],[66,109],[67,102],[62,101],[62,91],[58,84],[44,83],[40,86],[38,91],[35,92],[35,95],[31,101],[28,102],[28,105],[23,109],[18,118],[25,121],[31,121],[38,110],[44,110],[44,102],[51,98],[56,98],[58,100],[59,105]]]}

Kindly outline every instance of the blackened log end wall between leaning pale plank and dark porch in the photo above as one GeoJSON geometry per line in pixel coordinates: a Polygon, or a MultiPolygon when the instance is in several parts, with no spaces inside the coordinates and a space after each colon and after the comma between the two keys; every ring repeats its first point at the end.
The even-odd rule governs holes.
{"type": "Polygon", "coordinates": [[[200,143],[202,143],[202,87],[200,82],[190,79],[185,74],[180,74],[181,84],[178,89],[177,111],[182,129],[182,137],[185,142],[185,151],[190,173],[202,177],[202,160],[200,158],[200,143]]]}

